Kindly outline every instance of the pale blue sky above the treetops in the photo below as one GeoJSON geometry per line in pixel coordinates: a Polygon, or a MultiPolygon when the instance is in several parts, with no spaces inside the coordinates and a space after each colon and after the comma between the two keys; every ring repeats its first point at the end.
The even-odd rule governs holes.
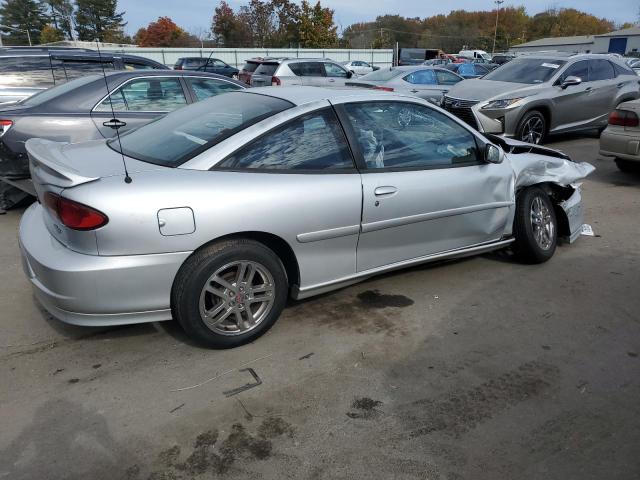
{"type": "MultiPolygon", "coordinates": [[[[234,9],[248,3],[227,1],[234,9]]],[[[213,9],[218,3],[217,0],[118,0],[118,8],[126,12],[128,25],[125,30],[129,34],[161,16],[171,17],[184,29],[198,32],[210,28],[213,9]]],[[[374,20],[378,15],[424,18],[451,10],[490,10],[495,7],[491,0],[321,0],[321,3],[335,10],[338,32],[352,23],[374,20]]],[[[615,23],[624,23],[638,21],[640,0],[505,0],[502,7],[520,5],[524,5],[530,15],[549,7],[576,8],[615,23]]]]}

